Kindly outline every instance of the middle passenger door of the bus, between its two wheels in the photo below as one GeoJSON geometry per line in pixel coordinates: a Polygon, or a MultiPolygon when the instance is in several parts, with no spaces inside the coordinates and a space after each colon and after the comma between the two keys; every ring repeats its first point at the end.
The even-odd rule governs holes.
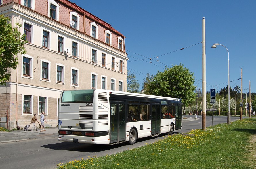
{"type": "Polygon", "coordinates": [[[152,103],[151,110],[152,110],[151,135],[156,135],[160,133],[160,123],[161,123],[160,104],[152,103]]]}

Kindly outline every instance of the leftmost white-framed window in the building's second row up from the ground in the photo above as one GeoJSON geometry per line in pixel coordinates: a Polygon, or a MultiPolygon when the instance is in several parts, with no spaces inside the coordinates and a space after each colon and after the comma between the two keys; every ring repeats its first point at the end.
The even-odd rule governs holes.
{"type": "Polygon", "coordinates": [[[21,56],[22,72],[21,77],[33,79],[33,57],[28,54],[21,56]]]}

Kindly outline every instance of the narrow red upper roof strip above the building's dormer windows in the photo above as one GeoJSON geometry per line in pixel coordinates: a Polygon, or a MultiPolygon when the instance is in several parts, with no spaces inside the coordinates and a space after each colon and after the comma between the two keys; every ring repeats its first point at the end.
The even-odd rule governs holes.
{"type": "Polygon", "coordinates": [[[79,7],[78,5],[76,5],[75,3],[72,3],[68,0],[58,0],[68,6],[70,6],[71,8],[75,9],[76,11],[79,11],[83,14],[85,14],[87,17],[95,20],[96,22],[100,23],[101,25],[105,26],[106,28],[108,28],[109,30],[115,32],[116,34],[119,34],[121,36],[123,36],[125,38],[125,36],[123,34],[121,34],[120,32],[118,32],[116,29],[114,29],[110,24],[106,23],[105,21],[101,20],[100,18],[94,16],[93,14],[89,13],[88,11],[85,11],[83,8],[79,7]]]}

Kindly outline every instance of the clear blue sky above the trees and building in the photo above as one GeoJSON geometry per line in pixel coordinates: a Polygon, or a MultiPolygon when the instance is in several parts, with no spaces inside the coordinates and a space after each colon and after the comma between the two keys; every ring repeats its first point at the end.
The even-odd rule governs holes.
{"type": "Polygon", "coordinates": [[[200,42],[202,17],[205,17],[206,91],[211,88],[219,91],[228,85],[228,52],[223,46],[211,48],[214,43],[219,43],[229,51],[230,86],[241,85],[242,68],[243,92],[249,93],[249,81],[251,92],[256,92],[255,0],[70,1],[106,21],[126,37],[128,70],[136,75],[140,89],[147,73],[155,75],[158,71],[163,72],[165,65],[180,63],[194,73],[195,86],[202,87],[200,42]],[[181,48],[184,49],[179,50],[181,48]],[[151,60],[152,63],[147,59],[156,56],[159,56],[159,62],[156,58],[151,60]]]}

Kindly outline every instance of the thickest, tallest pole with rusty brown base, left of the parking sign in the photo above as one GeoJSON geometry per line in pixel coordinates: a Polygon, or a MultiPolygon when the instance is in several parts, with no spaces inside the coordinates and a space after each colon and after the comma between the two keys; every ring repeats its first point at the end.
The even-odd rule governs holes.
{"type": "Polygon", "coordinates": [[[202,19],[202,130],[206,129],[206,55],[205,55],[205,17],[202,19]]]}

